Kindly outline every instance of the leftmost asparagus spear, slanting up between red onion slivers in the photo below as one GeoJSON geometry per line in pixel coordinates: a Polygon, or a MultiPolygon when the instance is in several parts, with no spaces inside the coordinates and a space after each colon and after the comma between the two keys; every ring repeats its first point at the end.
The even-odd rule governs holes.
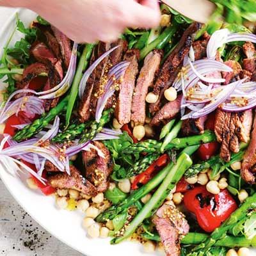
{"type": "Polygon", "coordinates": [[[32,124],[26,125],[22,130],[18,131],[13,140],[22,141],[31,138],[33,135],[40,132],[45,126],[47,126],[55,116],[60,115],[67,108],[68,96],[66,96],[61,102],[52,108],[48,113],[45,113],[40,118],[36,119],[32,124]]]}

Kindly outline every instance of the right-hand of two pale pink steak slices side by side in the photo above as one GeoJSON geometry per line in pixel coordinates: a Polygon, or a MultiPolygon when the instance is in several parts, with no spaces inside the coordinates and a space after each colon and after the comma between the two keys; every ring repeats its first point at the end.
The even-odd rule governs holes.
{"type": "Polygon", "coordinates": [[[136,125],[144,124],[146,118],[146,96],[148,88],[152,86],[154,77],[159,69],[162,51],[154,50],[145,58],[143,68],[141,68],[138,77],[135,92],[132,98],[132,115],[131,120],[136,125]]]}

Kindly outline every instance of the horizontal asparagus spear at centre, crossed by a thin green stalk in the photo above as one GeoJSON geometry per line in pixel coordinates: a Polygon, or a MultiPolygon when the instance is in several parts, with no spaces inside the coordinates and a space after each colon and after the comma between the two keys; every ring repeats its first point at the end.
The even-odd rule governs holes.
{"type": "MultiPolygon", "coordinates": [[[[216,140],[216,136],[212,131],[205,131],[204,134],[189,136],[186,138],[175,138],[168,145],[166,145],[165,149],[171,148],[186,148],[193,145],[200,145],[202,143],[209,143],[216,140]]],[[[132,144],[131,146],[125,148],[124,154],[138,154],[141,152],[146,153],[154,153],[159,152],[162,143],[156,140],[146,140],[140,143],[132,144]]]]}

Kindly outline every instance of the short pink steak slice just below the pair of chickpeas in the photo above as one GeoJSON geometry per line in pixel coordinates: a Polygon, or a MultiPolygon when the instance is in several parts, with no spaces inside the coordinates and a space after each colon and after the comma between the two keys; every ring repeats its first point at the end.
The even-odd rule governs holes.
{"type": "Polygon", "coordinates": [[[152,118],[150,124],[160,125],[160,124],[166,124],[169,122],[173,117],[175,117],[179,111],[180,111],[180,100],[182,98],[182,95],[179,95],[177,99],[174,101],[170,101],[166,103],[163,108],[161,108],[156,115],[152,118]]]}

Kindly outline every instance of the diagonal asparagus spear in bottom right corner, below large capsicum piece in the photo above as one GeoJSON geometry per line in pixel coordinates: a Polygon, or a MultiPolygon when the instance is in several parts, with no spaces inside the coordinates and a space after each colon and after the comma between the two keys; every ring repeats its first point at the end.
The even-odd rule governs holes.
{"type": "Polygon", "coordinates": [[[256,193],[246,199],[246,201],[235,212],[230,215],[227,221],[225,221],[219,228],[216,228],[212,232],[211,236],[204,241],[204,243],[196,246],[193,252],[188,256],[204,256],[205,253],[214,246],[217,241],[227,235],[228,230],[236,226],[241,220],[246,220],[248,214],[256,209],[256,193]]]}

